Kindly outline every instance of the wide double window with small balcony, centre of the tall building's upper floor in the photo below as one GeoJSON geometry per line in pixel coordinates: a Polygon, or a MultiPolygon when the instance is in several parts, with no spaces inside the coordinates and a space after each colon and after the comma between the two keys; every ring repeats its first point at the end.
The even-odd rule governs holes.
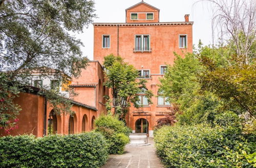
{"type": "Polygon", "coordinates": [[[135,36],[135,51],[150,51],[150,35],[135,36]]]}

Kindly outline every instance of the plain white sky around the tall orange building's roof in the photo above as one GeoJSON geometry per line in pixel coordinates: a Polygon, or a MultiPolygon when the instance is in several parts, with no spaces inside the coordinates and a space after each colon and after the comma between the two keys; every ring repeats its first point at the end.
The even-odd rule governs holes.
{"type": "MultiPolygon", "coordinates": [[[[98,18],[94,22],[125,22],[125,9],[141,0],[95,0],[95,13],[98,18]]],[[[184,21],[184,15],[190,14],[189,21],[194,21],[193,44],[198,44],[199,39],[204,45],[211,44],[211,14],[209,6],[199,0],[145,0],[144,2],[160,9],[160,22],[184,21]],[[196,3],[198,2],[198,3],[196,3]]],[[[93,60],[93,25],[84,28],[82,34],[76,35],[84,47],[82,52],[93,60]]]]}

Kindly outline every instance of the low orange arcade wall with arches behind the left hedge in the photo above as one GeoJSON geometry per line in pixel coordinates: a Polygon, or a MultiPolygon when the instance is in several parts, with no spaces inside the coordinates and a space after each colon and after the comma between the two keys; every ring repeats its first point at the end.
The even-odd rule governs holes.
{"type": "MultiPolygon", "coordinates": [[[[37,137],[44,136],[44,121],[45,121],[45,103],[44,97],[29,93],[20,93],[19,97],[15,98],[15,103],[19,104],[22,110],[18,115],[19,121],[17,122],[18,128],[11,130],[10,135],[20,134],[34,134],[37,137]],[[29,102],[29,103],[28,103],[29,102]]],[[[47,124],[51,111],[54,110],[47,104],[47,124]]],[[[83,116],[87,117],[86,131],[92,130],[92,119],[97,117],[97,111],[83,106],[73,105],[72,110],[75,111],[74,116],[74,133],[82,132],[82,119],[83,116]]],[[[69,114],[56,115],[57,118],[57,133],[69,134],[69,114]]],[[[47,131],[46,131],[47,132],[47,131]]],[[[8,134],[0,130],[1,136],[8,134]]]]}

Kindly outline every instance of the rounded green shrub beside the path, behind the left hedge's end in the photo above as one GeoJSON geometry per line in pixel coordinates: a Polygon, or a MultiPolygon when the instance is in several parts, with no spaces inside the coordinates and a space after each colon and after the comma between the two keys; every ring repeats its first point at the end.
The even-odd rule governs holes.
{"type": "Polygon", "coordinates": [[[128,135],[131,129],[112,115],[100,116],[95,120],[95,126],[95,131],[102,133],[109,143],[109,153],[122,154],[125,145],[130,142],[128,135]]]}

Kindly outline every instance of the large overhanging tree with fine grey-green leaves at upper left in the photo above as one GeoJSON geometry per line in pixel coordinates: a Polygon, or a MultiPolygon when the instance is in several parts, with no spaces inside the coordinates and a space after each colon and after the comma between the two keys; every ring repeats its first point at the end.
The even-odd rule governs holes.
{"type": "MultiPolygon", "coordinates": [[[[10,94],[17,96],[22,91],[21,84],[30,85],[33,71],[47,76],[54,69],[55,78],[65,83],[68,78],[63,73],[76,77],[81,68],[86,68],[87,58],[82,57],[80,50],[82,43],[70,32],[82,32],[94,17],[91,0],[0,1],[0,127],[7,127],[9,120],[16,117],[3,117],[11,110],[10,104],[18,110],[10,94]]],[[[55,106],[68,103],[56,96],[57,92],[41,91],[55,106]]]]}

